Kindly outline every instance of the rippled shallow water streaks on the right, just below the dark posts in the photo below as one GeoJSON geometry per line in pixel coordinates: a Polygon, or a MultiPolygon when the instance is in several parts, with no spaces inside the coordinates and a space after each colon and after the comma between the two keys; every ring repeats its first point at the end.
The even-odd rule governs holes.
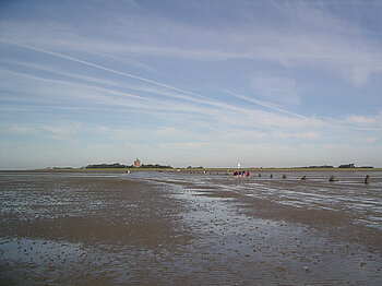
{"type": "Polygon", "coordinates": [[[189,182],[200,188],[227,190],[240,195],[264,199],[295,207],[350,212],[359,216],[357,223],[382,228],[382,171],[307,171],[252,174],[249,178],[227,176],[189,176],[168,181],[189,182]],[[365,184],[366,174],[371,183],[365,184]],[[283,179],[283,175],[287,179],[283,179]],[[330,182],[330,176],[338,181],[330,182]],[[307,176],[306,181],[301,177],[307,176]]]}

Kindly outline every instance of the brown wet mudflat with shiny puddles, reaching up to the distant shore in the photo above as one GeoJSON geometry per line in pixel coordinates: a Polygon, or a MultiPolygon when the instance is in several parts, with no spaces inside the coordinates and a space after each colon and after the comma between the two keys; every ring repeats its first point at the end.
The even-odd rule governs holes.
{"type": "Polygon", "coordinates": [[[0,285],[382,285],[382,174],[1,174],[0,285]]]}

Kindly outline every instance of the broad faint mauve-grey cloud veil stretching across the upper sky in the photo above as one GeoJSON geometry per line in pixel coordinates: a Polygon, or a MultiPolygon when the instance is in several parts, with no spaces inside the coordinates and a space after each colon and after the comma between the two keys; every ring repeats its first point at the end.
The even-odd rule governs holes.
{"type": "MultiPolygon", "coordinates": [[[[258,10],[243,13],[238,3],[229,7],[230,13],[247,14],[251,21],[232,22],[223,27],[186,24],[141,10],[142,14],[130,14],[129,17],[115,14],[112,21],[105,23],[108,38],[84,33],[88,26],[74,28],[55,22],[3,21],[1,31],[4,40],[19,45],[100,52],[118,58],[135,55],[207,61],[250,59],[310,67],[344,76],[357,86],[366,84],[372,74],[382,72],[381,49],[369,40],[367,31],[356,21],[345,20],[329,12],[324,5],[310,2],[275,2],[272,5],[278,9],[273,10],[276,15],[284,19],[279,25],[270,22],[258,10]]],[[[288,82],[284,84],[289,85],[288,82]]]]}

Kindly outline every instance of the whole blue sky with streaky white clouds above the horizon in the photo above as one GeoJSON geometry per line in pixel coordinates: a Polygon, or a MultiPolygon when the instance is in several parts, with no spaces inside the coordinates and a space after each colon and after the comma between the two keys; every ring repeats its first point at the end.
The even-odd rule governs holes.
{"type": "Polygon", "coordinates": [[[0,2],[0,169],[382,167],[382,1],[0,2]]]}

